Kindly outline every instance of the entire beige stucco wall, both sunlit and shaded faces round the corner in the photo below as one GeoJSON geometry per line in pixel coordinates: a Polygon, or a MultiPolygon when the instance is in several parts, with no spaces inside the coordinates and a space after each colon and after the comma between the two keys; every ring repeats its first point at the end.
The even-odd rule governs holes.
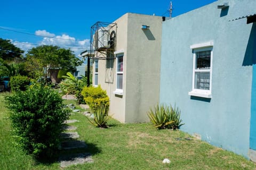
{"type": "Polygon", "coordinates": [[[126,13],[113,23],[117,24],[112,28],[116,31],[115,50],[124,51],[123,96],[113,93],[116,60],[99,60],[98,84],[107,91],[110,115],[118,121],[148,121],[146,112],[159,99],[162,17],[126,13]],[[142,24],[150,28],[142,30],[142,24]]]}

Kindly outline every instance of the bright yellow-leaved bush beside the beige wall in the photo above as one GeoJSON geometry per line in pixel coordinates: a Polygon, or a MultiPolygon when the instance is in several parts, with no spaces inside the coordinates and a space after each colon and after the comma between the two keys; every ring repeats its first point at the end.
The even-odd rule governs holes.
{"type": "Polygon", "coordinates": [[[109,107],[109,97],[107,96],[107,92],[106,90],[102,90],[100,86],[84,87],[82,95],[84,96],[86,104],[90,106],[93,112],[95,112],[100,105],[109,107]]]}

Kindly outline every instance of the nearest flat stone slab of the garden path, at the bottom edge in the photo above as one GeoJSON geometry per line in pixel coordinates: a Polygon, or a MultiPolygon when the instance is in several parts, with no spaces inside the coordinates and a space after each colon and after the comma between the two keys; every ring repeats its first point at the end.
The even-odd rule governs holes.
{"type": "Polygon", "coordinates": [[[60,167],[64,168],[70,165],[93,163],[92,156],[90,153],[79,153],[62,156],[59,158],[60,167]]]}

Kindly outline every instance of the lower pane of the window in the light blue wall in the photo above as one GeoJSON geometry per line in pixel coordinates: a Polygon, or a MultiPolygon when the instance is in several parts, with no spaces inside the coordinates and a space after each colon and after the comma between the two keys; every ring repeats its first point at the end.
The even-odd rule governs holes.
{"type": "Polygon", "coordinates": [[[210,90],[210,72],[195,72],[195,89],[210,90]]]}

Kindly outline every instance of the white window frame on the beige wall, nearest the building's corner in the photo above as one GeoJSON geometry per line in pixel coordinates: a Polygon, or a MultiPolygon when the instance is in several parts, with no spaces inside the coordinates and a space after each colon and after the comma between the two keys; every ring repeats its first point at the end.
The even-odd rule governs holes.
{"type": "Polygon", "coordinates": [[[116,55],[116,90],[113,92],[115,95],[123,96],[123,89],[124,89],[124,50],[119,50],[114,52],[116,55]],[[118,57],[123,57],[123,71],[117,71],[118,66],[118,57]],[[123,81],[122,81],[122,89],[117,88],[117,75],[122,74],[123,75],[123,81]]]}

